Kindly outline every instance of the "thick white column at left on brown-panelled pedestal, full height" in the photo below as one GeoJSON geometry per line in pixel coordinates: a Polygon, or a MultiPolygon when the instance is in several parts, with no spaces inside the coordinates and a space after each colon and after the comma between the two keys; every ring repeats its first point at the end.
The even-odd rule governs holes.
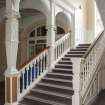
{"type": "Polygon", "coordinates": [[[16,69],[19,43],[19,2],[20,0],[6,0],[6,56],[7,69],[5,71],[5,105],[16,105],[18,96],[18,76],[16,69]]]}

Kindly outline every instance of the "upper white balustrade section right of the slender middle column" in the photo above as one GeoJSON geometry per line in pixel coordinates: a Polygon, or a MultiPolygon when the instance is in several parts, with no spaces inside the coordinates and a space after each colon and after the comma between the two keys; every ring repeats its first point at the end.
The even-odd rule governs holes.
{"type": "Polygon", "coordinates": [[[71,43],[70,33],[67,33],[55,43],[55,61],[58,61],[69,49],[71,43]]]}

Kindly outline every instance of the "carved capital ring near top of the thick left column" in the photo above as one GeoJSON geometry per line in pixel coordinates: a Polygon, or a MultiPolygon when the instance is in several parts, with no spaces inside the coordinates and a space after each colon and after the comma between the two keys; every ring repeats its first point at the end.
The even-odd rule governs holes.
{"type": "Polygon", "coordinates": [[[18,11],[14,11],[14,10],[6,11],[5,12],[5,17],[6,17],[6,19],[11,19],[11,18],[18,19],[18,18],[20,18],[20,13],[18,11]]]}

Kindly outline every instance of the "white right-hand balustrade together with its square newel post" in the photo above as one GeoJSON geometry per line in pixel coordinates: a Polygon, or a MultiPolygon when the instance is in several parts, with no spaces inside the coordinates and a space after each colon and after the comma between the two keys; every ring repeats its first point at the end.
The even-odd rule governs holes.
{"type": "MultiPolygon", "coordinates": [[[[96,40],[88,49],[83,58],[71,58],[73,62],[73,105],[87,105],[85,104],[87,96],[89,96],[89,89],[92,89],[91,84],[94,78],[97,79],[96,71],[105,51],[105,33],[99,34],[96,40]],[[78,93],[78,94],[77,94],[78,93]],[[78,97],[78,98],[77,98],[78,97]],[[76,103],[76,100],[77,103],[76,103]]],[[[94,80],[95,81],[95,80],[94,80]]],[[[93,81],[93,83],[95,83],[93,81]]],[[[95,89],[94,89],[95,90],[95,89]]],[[[90,90],[91,91],[91,90],[90,90]]],[[[92,95],[92,94],[91,94],[92,95]]],[[[88,99],[89,100],[89,99],[88,99]]]]}

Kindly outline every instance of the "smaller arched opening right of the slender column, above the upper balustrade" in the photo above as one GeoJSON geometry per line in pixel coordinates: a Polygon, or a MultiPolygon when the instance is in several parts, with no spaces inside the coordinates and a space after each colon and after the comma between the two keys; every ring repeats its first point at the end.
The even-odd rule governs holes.
{"type": "Polygon", "coordinates": [[[59,12],[56,15],[56,37],[55,40],[60,39],[62,36],[64,36],[66,33],[68,33],[70,29],[70,19],[67,17],[67,15],[63,12],[59,12]]]}

